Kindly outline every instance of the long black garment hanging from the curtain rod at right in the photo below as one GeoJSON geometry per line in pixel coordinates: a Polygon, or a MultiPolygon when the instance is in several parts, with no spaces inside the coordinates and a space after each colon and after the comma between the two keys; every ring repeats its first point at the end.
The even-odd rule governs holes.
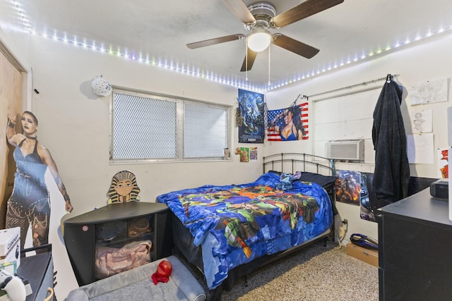
{"type": "Polygon", "coordinates": [[[410,166],[407,137],[400,111],[402,94],[403,87],[394,80],[387,80],[374,110],[372,140],[375,171],[371,184],[376,197],[371,206],[374,208],[381,208],[408,196],[410,166]]]}

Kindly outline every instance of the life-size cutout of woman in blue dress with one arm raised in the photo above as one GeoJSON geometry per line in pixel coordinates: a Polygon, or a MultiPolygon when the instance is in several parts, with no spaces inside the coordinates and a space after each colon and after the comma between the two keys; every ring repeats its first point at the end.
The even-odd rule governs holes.
{"type": "Polygon", "coordinates": [[[8,114],[6,137],[9,144],[16,147],[13,157],[17,170],[6,209],[6,228],[20,227],[20,248],[23,249],[30,225],[33,247],[49,243],[50,199],[44,178],[47,168],[64,197],[66,211],[71,212],[73,207],[49,149],[37,140],[36,116],[30,111],[23,112],[21,134],[16,133],[16,120],[17,114],[8,114]]]}

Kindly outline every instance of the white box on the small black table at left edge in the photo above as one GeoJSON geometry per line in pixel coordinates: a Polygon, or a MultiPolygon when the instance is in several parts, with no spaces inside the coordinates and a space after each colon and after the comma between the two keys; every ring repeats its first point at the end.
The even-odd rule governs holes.
{"type": "MultiPolygon", "coordinates": [[[[0,230],[0,264],[16,262],[14,269],[20,265],[20,228],[0,230]]],[[[8,271],[15,274],[16,271],[8,271]]]]}

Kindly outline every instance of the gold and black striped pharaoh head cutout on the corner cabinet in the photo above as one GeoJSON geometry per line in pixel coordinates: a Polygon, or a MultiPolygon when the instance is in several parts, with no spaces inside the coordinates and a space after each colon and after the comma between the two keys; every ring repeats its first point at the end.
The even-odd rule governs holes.
{"type": "Polygon", "coordinates": [[[112,185],[107,192],[107,204],[139,201],[140,188],[136,177],[130,171],[119,171],[112,178],[112,185]]]}

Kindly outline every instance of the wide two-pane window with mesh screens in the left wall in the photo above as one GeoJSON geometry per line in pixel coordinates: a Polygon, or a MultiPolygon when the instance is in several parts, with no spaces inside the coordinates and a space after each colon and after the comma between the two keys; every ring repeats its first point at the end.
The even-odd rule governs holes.
{"type": "Polygon", "coordinates": [[[229,108],[114,90],[110,161],[222,159],[229,108]]]}

